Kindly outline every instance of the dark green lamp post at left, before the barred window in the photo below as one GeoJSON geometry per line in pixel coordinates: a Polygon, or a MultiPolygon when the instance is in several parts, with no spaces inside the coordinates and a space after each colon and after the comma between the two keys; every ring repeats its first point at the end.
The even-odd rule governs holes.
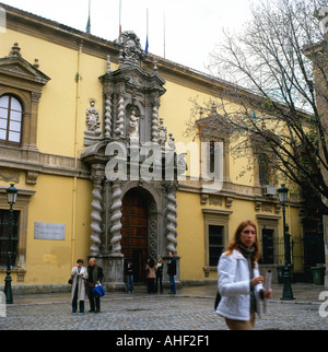
{"type": "Polygon", "coordinates": [[[10,206],[9,210],[9,238],[8,238],[8,261],[7,261],[7,275],[4,279],[4,294],[5,303],[12,304],[12,291],[11,291],[11,255],[12,255],[12,227],[13,227],[13,210],[12,206],[16,202],[17,189],[14,187],[14,184],[11,184],[7,188],[7,201],[10,206]]]}

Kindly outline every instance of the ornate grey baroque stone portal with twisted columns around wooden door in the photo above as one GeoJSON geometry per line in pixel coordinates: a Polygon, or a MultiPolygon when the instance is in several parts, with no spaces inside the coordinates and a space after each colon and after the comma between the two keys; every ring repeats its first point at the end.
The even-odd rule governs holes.
{"type": "MultiPolygon", "coordinates": [[[[164,176],[148,181],[129,177],[110,180],[106,177],[106,165],[116,157],[106,153],[113,142],[125,145],[128,171],[134,165],[133,153],[140,155],[145,143],[160,145],[162,160],[167,153],[174,155],[175,150],[172,134],[165,148],[167,130],[163,119],[159,118],[160,98],[166,92],[165,81],[157,73],[156,66],[151,73],[141,69],[144,52],[134,33],[122,33],[118,44],[121,45],[118,70],[110,70],[108,57],[107,72],[99,78],[104,93],[101,133],[97,132],[97,110],[92,103],[86,112],[89,146],[81,155],[90,166],[94,185],[90,256],[96,257],[103,266],[107,288],[113,290],[125,288],[124,260],[127,257],[133,260],[134,278],[141,282],[148,257],[156,260],[161,256],[165,265],[168,251],[173,251],[178,259],[177,165],[173,164],[169,180],[164,176]]],[[[137,161],[139,165],[142,162],[145,162],[143,156],[137,161]]],[[[165,164],[161,167],[164,175],[165,164]]]]}

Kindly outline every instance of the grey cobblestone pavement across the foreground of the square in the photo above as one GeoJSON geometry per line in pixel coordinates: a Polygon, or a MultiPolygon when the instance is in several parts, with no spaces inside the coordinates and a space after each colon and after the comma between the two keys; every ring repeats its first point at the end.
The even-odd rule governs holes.
{"type": "MultiPolygon", "coordinates": [[[[224,319],[213,312],[213,296],[109,294],[102,298],[99,314],[87,313],[89,302],[86,313],[72,314],[69,295],[56,301],[8,305],[7,317],[0,317],[0,330],[227,329],[224,319]]],[[[257,320],[256,330],[327,330],[328,317],[319,315],[321,304],[272,300],[268,315],[257,320]]]]}

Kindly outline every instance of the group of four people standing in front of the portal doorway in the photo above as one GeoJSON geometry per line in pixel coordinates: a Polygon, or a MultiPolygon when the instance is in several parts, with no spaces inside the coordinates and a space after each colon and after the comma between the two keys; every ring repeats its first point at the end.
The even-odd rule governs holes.
{"type": "MultiPolygon", "coordinates": [[[[133,263],[128,258],[125,263],[125,274],[127,292],[133,292],[133,263]]],[[[157,262],[154,259],[148,258],[144,271],[147,278],[148,293],[163,293],[163,270],[164,270],[163,259],[160,257],[157,262]],[[159,290],[160,289],[160,290],[159,290]]],[[[176,275],[176,259],[174,254],[169,251],[167,261],[167,274],[169,277],[169,293],[176,293],[175,279],[176,275]]]]}

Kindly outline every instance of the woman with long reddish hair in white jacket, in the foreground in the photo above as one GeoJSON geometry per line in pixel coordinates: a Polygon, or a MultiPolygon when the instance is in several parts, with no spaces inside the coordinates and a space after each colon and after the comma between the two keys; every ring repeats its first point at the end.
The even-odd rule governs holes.
{"type": "Polygon", "coordinates": [[[263,289],[258,259],[256,225],[243,221],[218,266],[221,301],[216,313],[225,318],[231,330],[253,330],[255,313],[260,316],[260,298],[271,298],[272,290],[263,289]]]}

